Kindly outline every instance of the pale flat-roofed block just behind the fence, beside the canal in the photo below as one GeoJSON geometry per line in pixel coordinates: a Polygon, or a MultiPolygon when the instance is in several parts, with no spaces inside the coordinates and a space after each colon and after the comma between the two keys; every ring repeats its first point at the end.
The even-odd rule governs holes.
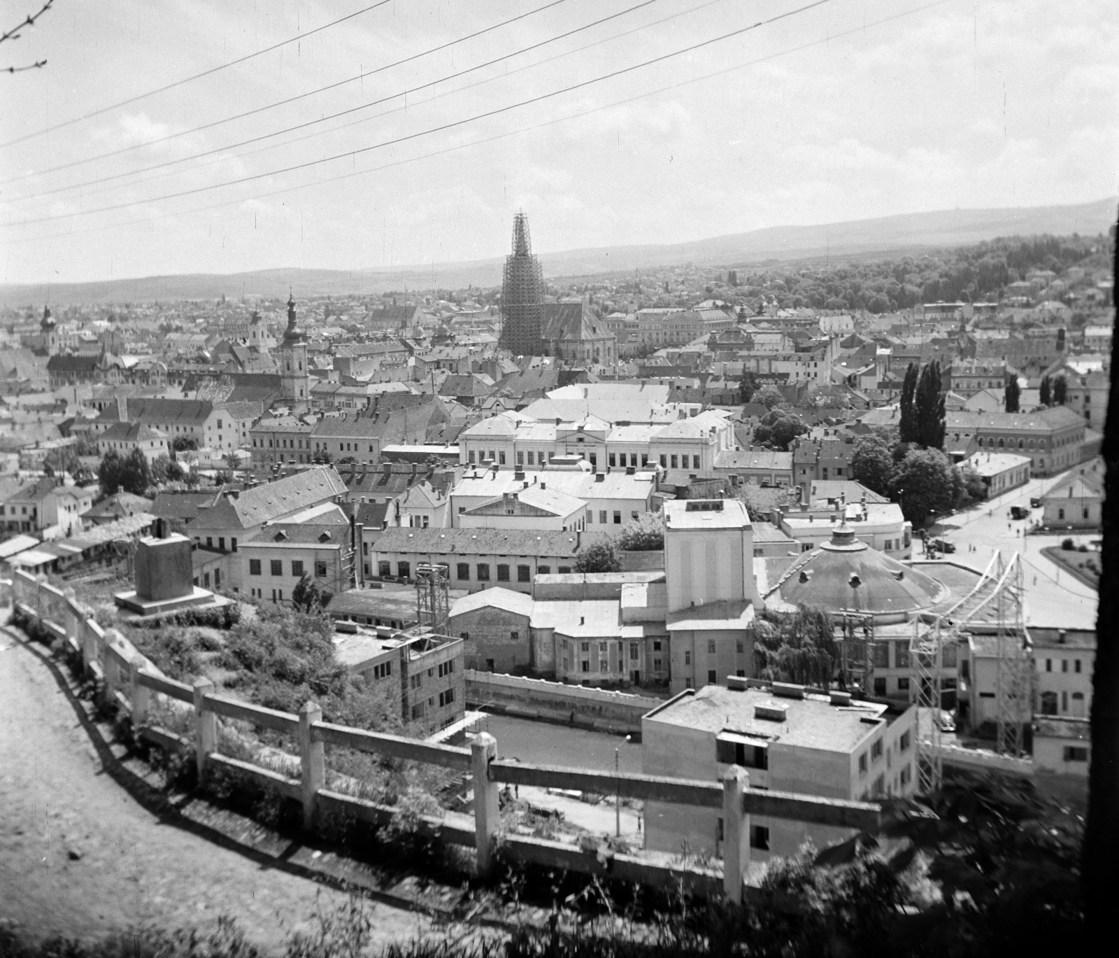
{"type": "MultiPolygon", "coordinates": [[[[646,774],[722,781],[734,766],[751,788],[843,800],[911,796],[916,708],[908,704],[816,693],[800,685],[731,677],[730,687],[685,689],[641,720],[646,774]]],[[[722,852],[722,810],[649,800],[646,847],[722,852]]],[[[850,829],[750,816],[750,855],[796,854],[807,839],[825,847],[850,829]]]]}

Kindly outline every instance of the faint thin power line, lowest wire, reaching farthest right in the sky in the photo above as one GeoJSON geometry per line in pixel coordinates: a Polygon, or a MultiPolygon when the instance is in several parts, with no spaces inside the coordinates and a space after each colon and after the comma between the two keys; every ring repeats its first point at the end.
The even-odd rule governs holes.
{"type": "Polygon", "coordinates": [[[761,63],[768,63],[769,60],[778,59],[779,57],[783,56],[789,56],[790,54],[801,53],[803,50],[811,49],[812,47],[824,46],[826,44],[831,43],[831,40],[838,40],[841,39],[843,37],[849,37],[853,34],[861,34],[864,32],[865,30],[871,29],[872,27],[880,27],[883,24],[888,24],[893,20],[901,20],[904,19],[905,17],[911,17],[914,13],[921,13],[924,10],[931,10],[935,7],[942,7],[944,3],[948,2],[950,2],[950,0],[933,0],[933,2],[931,3],[924,3],[920,7],[913,7],[909,10],[903,10],[900,13],[892,13],[888,17],[882,17],[877,20],[871,20],[866,24],[862,24],[858,27],[853,27],[849,30],[840,30],[839,32],[828,34],[828,36],[822,37],[818,40],[810,40],[806,44],[800,44],[799,46],[796,47],[788,47],[787,49],[778,50],[777,53],[773,54],[767,54],[765,56],[758,57],[752,60],[746,60],[745,63],[735,64],[734,66],[724,67],[723,69],[713,71],[712,73],[705,73],[702,74],[700,76],[692,77],[690,79],[683,79],[679,81],[678,83],[669,84],[668,86],[661,86],[658,87],[657,90],[650,90],[646,91],[645,93],[638,93],[634,94],[633,96],[627,96],[623,100],[615,100],[613,103],[606,103],[603,104],[602,106],[593,106],[589,110],[580,110],[567,116],[557,116],[553,120],[545,120],[540,123],[534,123],[529,126],[520,126],[517,130],[507,130],[504,133],[496,133],[492,137],[486,137],[481,140],[471,140],[469,143],[457,143],[453,147],[445,147],[441,150],[432,150],[427,153],[421,153],[420,156],[416,157],[407,157],[402,160],[394,160],[389,163],[383,163],[379,167],[369,167],[364,170],[354,170],[346,173],[338,173],[336,176],[326,177],[323,179],[314,180],[312,182],[299,184],[297,186],[281,187],[280,189],[269,190],[267,192],[258,192],[254,194],[253,196],[237,197],[236,199],[226,199],[222,200],[220,203],[207,204],[206,206],[196,206],[190,209],[180,210],[178,213],[161,213],[156,216],[145,216],[139,219],[126,219],[122,223],[113,223],[107,226],[87,226],[84,229],[67,229],[64,233],[49,233],[43,236],[32,237],[30,242],[41,242],[44,240],[60,240],[70,236],[81,236],[86,233],[100,233],[105,229],[117,229],[124,226],[151,224],[156,219],[173,219],[182,216],[192,216],[196,213],[208,213],[213,209],[224,209],[227,206],[236,206],[239,203],[247,203],[248,200],[269,199],[270,197],[273,196],[283,196],[284,194],[298,192],[303,189],[311,189],[312,187],[323,186],[326,184],[337,182],[339,180],[352,179],[355,177],[367,176],[368,173],[382,172],[383,170],[407,166],[408,163],[419,162],[420,160],[429,160],[435,157],[446,156],[448,153],[455,153],[459,150],[466,150],[469,149],[470,147],[486,145],[487,143],[493,143],[497,142],[498,140],[506,140],[510,137],[520,135],[521,133],[530,133],[535,130],[542,130],[547,126],[554,126],[557,123],[566,123],[571,120],[577,120],[583,116],[591,116],[595,113],[601,113],[606,110],[613,110],[615,106],[624,106],[629,103],[636,103],[639,100],[646,100],[650,96],[657,96],[661,93],[670,93],[674,90],[680,90],[685,86],[692,86],[696,83],[703,83],[704,81],[707,79],[714,79],[715,77],[725,76],[727,74],[735,73],[740,69],[746,69],[747,67],[756,66],[758,64],[761,63]]]}

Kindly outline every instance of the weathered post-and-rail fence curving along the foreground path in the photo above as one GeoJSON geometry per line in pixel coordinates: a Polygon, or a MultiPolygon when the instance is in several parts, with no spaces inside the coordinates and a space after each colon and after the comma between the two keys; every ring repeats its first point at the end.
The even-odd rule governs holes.
{"type": "Polygon", "coordinates": [[[750,815],[868,832],[878,830],[881,825],[877,805],[751,789],[749,774],[737,767],[732,767],[722,782],[709,782],[500,761],[497,742],[487,733],[476,735],[470,748],[464,749],[323,722],[321,708],[311,702],[298,715],[235,702],[214,694],[214,684],[208,679],[187,685],[168,678],[120,632],[103,630],[84,608],[49,583],[17,571],[11,591],[21,616],[43,624],[55,636],[56,647],[81,655],[83,671],[101,686],[103,701],[126,715],[140,738],[167,750],[194,752],[199,778],[224,769],[247,776],[300,802],[308,829],[316,827],[325,811],[351,815],[374,825],[386,825],[398,815],[398,809],[392,806],[326,788],[326,745],[469,772],[473,781],[472,814],[446,811],[439,817],[422,816],[420,829],[436,840],[472,847],[478,871],[483,875],[492,870],[500,848],[508,857],[549,868],[610,874],[650,885],[681,882],[694,891],[713,894],[722,889],[728,899],[742,901],[743,876],[750,864],[750,815]],[[149,722],[152,695],[189,706],[194,721],[190,739],[149,722]],[[299,755],[292,757],[299,763],[299,777],[223,755],[219,716],[291,735],[299,746],[299,755]],[[502,783],[720,808],[724,829],[722,871],[698,864],[658,863],[637,855],[615,854],[605,847],[584,851],[561,842],[502,834],[498,802],[498,788],[502,783]]]}

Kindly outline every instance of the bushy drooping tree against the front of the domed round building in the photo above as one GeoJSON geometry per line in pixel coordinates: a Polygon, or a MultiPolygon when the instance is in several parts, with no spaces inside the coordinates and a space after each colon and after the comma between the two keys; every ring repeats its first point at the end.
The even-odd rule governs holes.
{"type": "Polygon", "coordinates": [[[835,627],[822,609],[763,612],[754,623],[754,673],[762,678],[826,688],[837,658],[835,627]]]}

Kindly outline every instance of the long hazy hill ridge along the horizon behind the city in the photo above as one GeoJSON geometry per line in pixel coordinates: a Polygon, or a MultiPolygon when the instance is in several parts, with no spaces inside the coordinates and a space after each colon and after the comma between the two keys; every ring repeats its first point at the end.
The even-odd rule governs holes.
{"type": "MultiPolygon", "coordinates": [[[[540,253],[544,274],[589,276],[631,272],[634,269],[696,265],[749,266],[767,261],[789,261],[833,255],[899,255],[942,246],[961,246],[996,236],[1037,233],[1068,235],[1106,233],[1115,223],[1116,199],[1078,206],[1016,207],[1010,209],[946,209],[905,213],[877,219],[857,219],[820,226],[772,226],[715,236],[690,243],[649,246],[609,246],[540,253]]],[[[380,293],[386,290],[460,289],[495,287],[501,282],[500,257],[399,270],[257,270],[248,273],[188,273],[144,276],[110,282],[0,285],[0,303],[59,306],[90,302],[201,300],[242,295],[282,295],[289,287],[300,295],[380,293]]]]}

